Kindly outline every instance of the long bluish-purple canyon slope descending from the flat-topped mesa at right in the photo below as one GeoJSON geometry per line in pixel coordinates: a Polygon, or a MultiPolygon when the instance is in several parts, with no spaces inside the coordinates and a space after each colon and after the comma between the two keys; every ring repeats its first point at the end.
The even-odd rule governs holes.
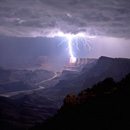
{"type": "Polygon", "coordinates": [[[130,59],[100,57],[94,66],[87,66],[77,77],[60,80],[55,87],[44,90],[43,94],[62,103],[64,97],[69,93],[78,94],[81,90],[90,88],[108,77],[120,81],[130,73],[130,59]]]}

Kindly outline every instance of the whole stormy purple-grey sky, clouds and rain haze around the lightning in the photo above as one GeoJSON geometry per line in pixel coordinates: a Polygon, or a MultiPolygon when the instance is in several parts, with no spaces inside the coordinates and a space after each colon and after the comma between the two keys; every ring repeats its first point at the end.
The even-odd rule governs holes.
{"type": "Polygon", "coordinates": [[[77,57],[130,58],[130,0],[0,0],[0,65],[39,56],[63,62],[59,32],[95,36],[90,50],[73,46],[77,57]]]}

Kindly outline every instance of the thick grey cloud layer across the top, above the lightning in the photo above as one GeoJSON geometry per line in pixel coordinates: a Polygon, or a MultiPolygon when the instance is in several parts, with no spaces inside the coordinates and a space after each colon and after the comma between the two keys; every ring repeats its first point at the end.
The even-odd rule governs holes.
{"type": "Polygon", "coordinates": [[[130,37],[129,0],[0,0],[0,35],[130,37]]]}

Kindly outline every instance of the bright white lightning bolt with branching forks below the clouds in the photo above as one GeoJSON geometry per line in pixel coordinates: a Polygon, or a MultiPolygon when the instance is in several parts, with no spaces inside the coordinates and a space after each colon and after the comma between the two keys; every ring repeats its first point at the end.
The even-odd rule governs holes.
{"type": "MultiPolygon", "coordinates": [[[[75,39],[75,41],[76,41],[75,44],[76,44],[76,47],[77,47],[78,50],[79,50],[79,48],[78,48],[78,44],[79,44],[78,41],[79,40],[83,43],[84,46],[87,45],[89,50],[91,49],[91,47],[90,47],[90,45],[88,43],[89,42],[88,41],[89,40],[88,37],[85,37],[85,35],[82,34],[82,33],[78,33],[78,34],[74,35],[74,34],[64,34],[64,33],[60,32],[60,33],[58,33],[58,36],[66,37],[66,40],[63,40],[60,44],[62,44],[63,42],[67,41],[68,49],[69,49],[69,55],[70,55],[70,62],[71,63],[76,62],[76,57],[74,56],[74,52],[73,52],[73,49],[72,49],[72,45],[73,45],[72,40],[73,39],[75,39]]],[[[89,38],[90,38],[90,36],[89,36],[89,38]]],[[[91,38],[93,38],[93,37],[91,37],[91,38]]]]}

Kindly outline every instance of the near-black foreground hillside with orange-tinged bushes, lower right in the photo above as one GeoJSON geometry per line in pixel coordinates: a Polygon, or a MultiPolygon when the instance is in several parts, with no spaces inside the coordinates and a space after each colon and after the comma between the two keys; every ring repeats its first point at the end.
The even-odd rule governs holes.
{"type": "Polygon", "coordinates": [[[116,83],[112,78],[69,94],[53,118],[31,130],[128,130],[130,122],[130,74],[116,83]]]}

